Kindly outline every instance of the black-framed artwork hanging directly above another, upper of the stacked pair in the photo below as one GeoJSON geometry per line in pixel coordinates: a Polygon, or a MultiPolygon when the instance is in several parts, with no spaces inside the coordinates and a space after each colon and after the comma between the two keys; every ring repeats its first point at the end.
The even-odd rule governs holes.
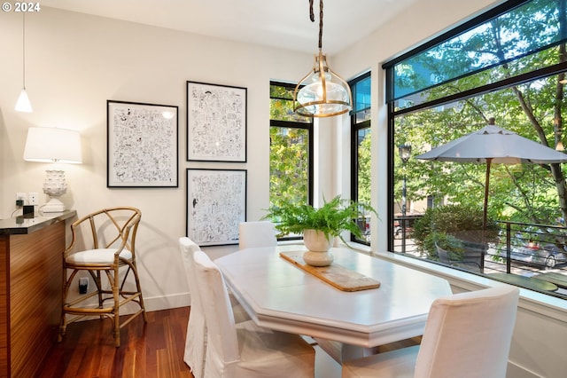
{"type": "Polygon", "coordinates": [[[246,161],[246,88],[187,82],[187,160],[246,161]]]}

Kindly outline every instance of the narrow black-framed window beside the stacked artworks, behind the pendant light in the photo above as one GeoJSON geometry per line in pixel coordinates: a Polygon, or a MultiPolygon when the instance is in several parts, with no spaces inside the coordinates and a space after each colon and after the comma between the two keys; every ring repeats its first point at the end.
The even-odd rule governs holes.
{"type": "Polygon", "coordinates": [[[313,120],[293,112],[295,85],[270,83],[269,201],[313,203],[313,120]]]}

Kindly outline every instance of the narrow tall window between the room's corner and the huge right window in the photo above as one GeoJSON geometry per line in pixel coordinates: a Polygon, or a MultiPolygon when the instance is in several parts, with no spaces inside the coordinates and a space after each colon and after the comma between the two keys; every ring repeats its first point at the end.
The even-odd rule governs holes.
{"type": "MultiPolygon", "coordinates": [[[[353,92],[353,112],[351,114],[351,197],[353,201],[370,204],[370,73],[357,77],[349,83],[353,92]]],[[[359,219],[359,227],[364,240],[353,241],[364,244],[370,242],[370,215],[359,219]]]]}

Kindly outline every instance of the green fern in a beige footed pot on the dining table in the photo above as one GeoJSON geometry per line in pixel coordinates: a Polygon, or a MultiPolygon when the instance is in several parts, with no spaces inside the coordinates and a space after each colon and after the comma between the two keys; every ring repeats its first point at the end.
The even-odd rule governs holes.
{"type": "MultiPolygon", "coordinates": [[[[364,219],[365,213],[368,212],[377,215],[376,210],[368,204],[343,200],[337,196],[331,201],[325,201],[322,207],[317,209],[306,203],[286,202],[280,206],[271,206],[263,219],[270,219],[274,222],[280,235],[303,234],[304,243],[309,251],[327,252],[336,237],[346,244],[346,240],[341,235],[342,232],[351,232],[357,238],[362,239],[364,235],[356,221],[364,219]]],[[[304,260],[307,264],[311,264],[306,259],[308,256],[304,256],[304,260]]],[[[315,256],[312,257],[315,258],[315,256]]],[[[317,257],[325,258],[321,255],[317,257]]],[[[324,264],[325,261],[322,261],[317,266],[324,266],[324,264]]]]}

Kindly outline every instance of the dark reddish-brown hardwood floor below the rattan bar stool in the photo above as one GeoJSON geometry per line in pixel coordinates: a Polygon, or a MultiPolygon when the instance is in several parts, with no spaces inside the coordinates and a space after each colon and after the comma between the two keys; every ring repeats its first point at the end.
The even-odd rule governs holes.
{"type": "Polygon", "coordinates": [[[122,328],[114,346],[110,320],[76,322],[55,343],[37,378],[193,378],[183,362],[189,307],[148,312],[122,328]]]}

